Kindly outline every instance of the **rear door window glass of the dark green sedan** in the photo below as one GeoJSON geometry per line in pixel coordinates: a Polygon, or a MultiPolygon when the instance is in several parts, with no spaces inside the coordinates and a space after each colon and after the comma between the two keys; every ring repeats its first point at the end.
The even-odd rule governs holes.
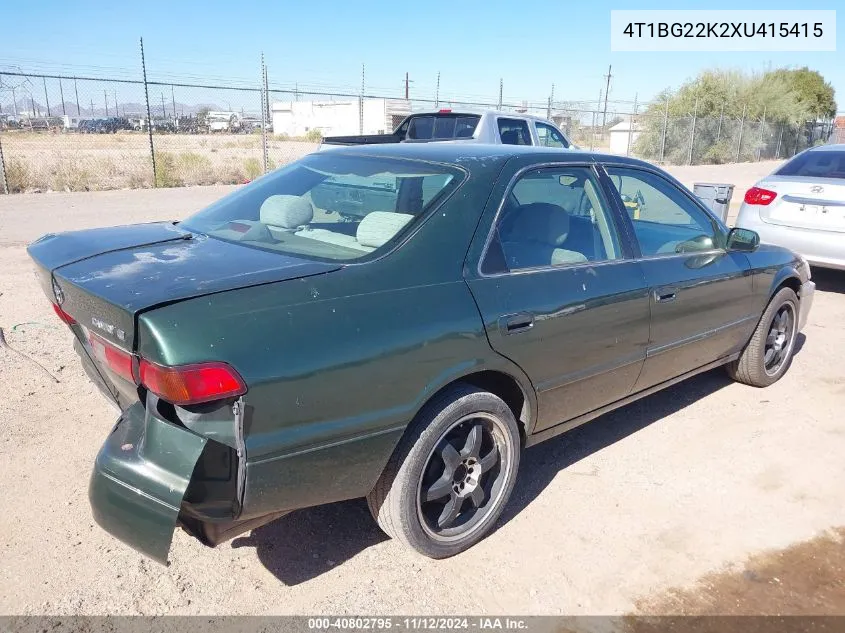
{"type": "Polygon", "coordinates": [[[492,256],[512,271],[621,258],[616,226],[598,192],[588,167],[527,172],[499,214],[492,256]]]}

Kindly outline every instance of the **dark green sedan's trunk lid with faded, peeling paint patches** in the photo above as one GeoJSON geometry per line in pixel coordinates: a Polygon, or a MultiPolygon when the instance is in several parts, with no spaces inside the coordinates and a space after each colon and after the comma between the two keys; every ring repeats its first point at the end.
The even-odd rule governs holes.
{"type": "Polygon", "coordinates": [[[340,268],[190,233],[172,223],[50,234],[27,250],[50,301],[127,351],[136,347],[136,317],[145,310],[340,268]]]}

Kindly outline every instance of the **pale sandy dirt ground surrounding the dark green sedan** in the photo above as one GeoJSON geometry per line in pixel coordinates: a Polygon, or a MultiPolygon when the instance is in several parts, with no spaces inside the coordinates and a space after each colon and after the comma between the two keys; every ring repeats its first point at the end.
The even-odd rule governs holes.
{"type": "MultiPolygon", "coordinates": [[[[772,166],[676,174],[735,182],[739,199],[772,166]]],[[[214,550],[177,533],[169,567],[108,536],[87,482],[115,411],[86,379],[25,246],[48,231],[183,217],[229,190],[0,196],[0,613],[845,611],[831,531],[845,526],[845,274],[818,270],[780,382],[758,390],[712,371],[529,449],[498,529],[460,556],[404,550],[361,500],[214,550]],[[768,602],[740,595],[770,581],[781,593],[768,602]]]]}

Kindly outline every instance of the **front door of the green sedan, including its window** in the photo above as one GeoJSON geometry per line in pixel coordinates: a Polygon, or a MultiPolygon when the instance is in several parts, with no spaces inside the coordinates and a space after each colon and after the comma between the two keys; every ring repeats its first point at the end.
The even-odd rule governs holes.
{"type": "Polygon", "coordinates": [[[651,336],[635,389],[647,389],[739,351],[756,323],[748,258],[691,194],[657,171],[606,167],[639,248],[651,336]]]}

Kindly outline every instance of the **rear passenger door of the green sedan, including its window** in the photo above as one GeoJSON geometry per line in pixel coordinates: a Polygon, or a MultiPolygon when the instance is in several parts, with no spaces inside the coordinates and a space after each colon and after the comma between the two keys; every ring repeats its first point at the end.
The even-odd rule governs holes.
{"type": "Polygon", "coordinates": [[[506,167],[507,192],[491,196],[466,277],[490,344],[531,378],[539,431],[631,392],[649,300],[593,166],[529,163],[513,174],[506,167]]]}

